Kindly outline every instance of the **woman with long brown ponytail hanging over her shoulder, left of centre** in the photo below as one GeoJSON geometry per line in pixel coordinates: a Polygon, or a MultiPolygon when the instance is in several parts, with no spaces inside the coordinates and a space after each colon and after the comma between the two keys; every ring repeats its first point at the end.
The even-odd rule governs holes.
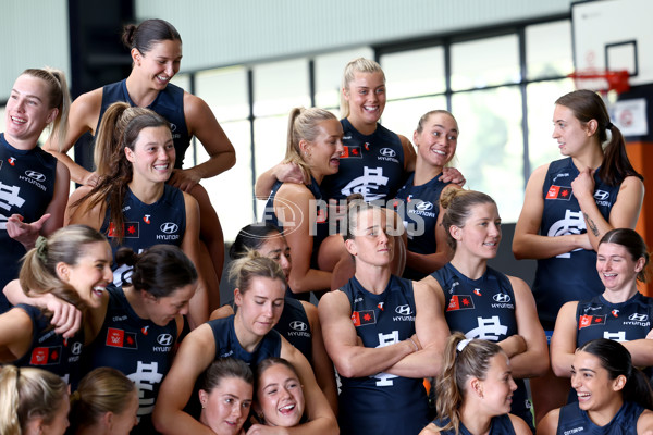
{"type": "MultiPolygon", "coordinates": [[[[199,263],[197,201],[167,184],[175,161],[169,124],[148,109],[113,103],[98,130],[96,150],[101,160],[113,162],[97,186],[76,201],[71,223],[89,225],[111,241],[115,257],[120,247],[140,252],[152,245],[178,246],[199,263]]],[[[113,284],[130,283],[132,269],[114,262],[113,284]]],[[[200,277],[193,297],[189,323],[193,327],[208,316],[208,296],[200,277]]]]}

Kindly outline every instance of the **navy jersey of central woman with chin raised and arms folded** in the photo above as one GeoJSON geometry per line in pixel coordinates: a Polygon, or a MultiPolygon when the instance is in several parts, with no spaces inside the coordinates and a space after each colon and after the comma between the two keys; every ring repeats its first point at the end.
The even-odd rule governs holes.
{"type": "MultiPolygon", "coordinates": [[[[390,346],[415,334],[412,282],[391,276],[374,295],[353,277],[340,289],[352,307],[352,321],[365,347],[390,346]]],[[[338,397],[342,434],[418,434],[429,422],[421,378],[377,373],[343,377],[338,397]]]]}

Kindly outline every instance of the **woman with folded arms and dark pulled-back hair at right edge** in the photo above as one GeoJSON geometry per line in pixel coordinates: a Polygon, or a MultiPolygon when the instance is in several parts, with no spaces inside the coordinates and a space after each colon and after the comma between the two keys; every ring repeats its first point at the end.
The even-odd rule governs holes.
{"type": "Polygon", "coordinates": [[[638,281],[646,282],[648,266],[646,245],[633,229],[617,228],[603,236],[596,271],[605,291],[560,309],[551,339],[551,363],[557,376],[570,377],[576,349],[595,338],[621,343],[638,368],[653,365],[653,340],[648,339],[653,299],[637,289],[638,281]]]}

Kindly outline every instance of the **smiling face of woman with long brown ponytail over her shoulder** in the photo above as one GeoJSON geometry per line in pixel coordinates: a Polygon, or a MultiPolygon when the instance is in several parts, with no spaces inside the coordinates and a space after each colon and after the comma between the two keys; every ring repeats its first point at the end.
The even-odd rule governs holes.
{"type": "Polygon", "coordinates": [[[138,133],[134,149],[125,147],[133,166],[133,181],[165,183],[174,167],[175,150],[170,128],[146,127],[138,133]]]}

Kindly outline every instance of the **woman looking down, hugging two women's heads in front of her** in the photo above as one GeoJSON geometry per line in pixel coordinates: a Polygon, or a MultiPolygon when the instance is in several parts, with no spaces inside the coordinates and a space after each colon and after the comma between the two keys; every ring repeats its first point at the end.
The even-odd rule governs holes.
{"type": "Polygon", "coordinates": [[[188,334],[163,381],[155,409],[156,428],[163,434],[209,434],[184,412],[200,374],[218,358],[232,357],[252,366],[268,357],[288,360],[299,373],[307,397],[307,423],[300,433],[332,434],[337,424],[306,358],[272,328],[283,310],[285,275],[273,260],[251,253],[232,263],[236,277],[234,315],[211,320],[188,334]]]}

